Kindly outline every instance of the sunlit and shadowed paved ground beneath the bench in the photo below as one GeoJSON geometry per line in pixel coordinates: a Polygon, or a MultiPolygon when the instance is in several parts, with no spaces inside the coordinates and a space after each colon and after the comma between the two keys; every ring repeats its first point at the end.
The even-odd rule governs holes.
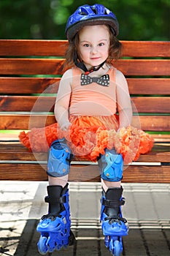
{"type": "MultiPolygon", "coordinates": [[[[0,182],[0,256],[38,256],[36,225],[47,213],[46,182],[0,182]]],[[[109,256],[98,221],[100,184],[70,184],[74,246],[53,256],[109,256]]],[[[123,184],[130,225],[126,256],[170,255],[170,184],[123,184]]]]}

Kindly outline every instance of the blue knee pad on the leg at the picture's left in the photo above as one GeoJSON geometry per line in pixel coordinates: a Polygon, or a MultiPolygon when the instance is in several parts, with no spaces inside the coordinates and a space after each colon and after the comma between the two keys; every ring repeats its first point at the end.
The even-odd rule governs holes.
{"type": "Polygon", "coordinates": [[[55,140],[50,146],[47,162],[47,174],[62,177],[69,173],[72,154],[66,140],[55,140]]]}

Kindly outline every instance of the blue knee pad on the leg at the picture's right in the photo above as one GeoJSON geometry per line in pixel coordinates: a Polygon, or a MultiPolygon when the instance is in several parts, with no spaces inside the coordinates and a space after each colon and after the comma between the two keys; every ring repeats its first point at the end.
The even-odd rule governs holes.
{"type": "Polygon", "coordinates": [[[123,157],[115,149],[106,149],[98,159],[98,167],[105,181],[121,181],[123,178],[123,157]]]}

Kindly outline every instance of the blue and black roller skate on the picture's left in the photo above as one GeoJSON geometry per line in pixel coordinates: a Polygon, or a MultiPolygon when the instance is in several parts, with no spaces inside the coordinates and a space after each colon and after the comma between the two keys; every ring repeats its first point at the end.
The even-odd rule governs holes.
{"type": "Polygon", "coordinates": [[[74,244],[75,238],[70,229],[69,189],[65,187],[48,186],[48,196],[45,202],[49,203],[49,214],[44,215],[36,227],[41,233],[37,244],[41,255],[52,255],[55,250],[74,244]]]}

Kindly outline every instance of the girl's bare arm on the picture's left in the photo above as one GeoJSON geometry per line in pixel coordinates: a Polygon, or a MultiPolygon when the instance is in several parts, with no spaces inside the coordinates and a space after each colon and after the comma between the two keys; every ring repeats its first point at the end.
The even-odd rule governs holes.
{"type": "Polygon", "coordinates": [[[55,102],[55,118],[58,121],[61,129],[66,130],[70,126],[69,122],[69,102],[72,93],[72,69],[67,70],[63,77],[58,89],[57,99],[55,102]]]}

